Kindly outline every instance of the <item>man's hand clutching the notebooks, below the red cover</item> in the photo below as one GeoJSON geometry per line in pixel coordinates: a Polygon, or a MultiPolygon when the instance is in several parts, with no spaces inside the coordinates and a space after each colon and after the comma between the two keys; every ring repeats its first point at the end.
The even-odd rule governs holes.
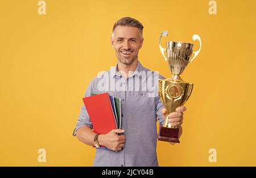
{"type": "Polygon", "coordinates": [[[108,134],[98,135],[98,143],[101,146],[107,147],[112,151],[120,151],[125,144],[125,135],[117,135],[124,133],[125,130],[113,129],[108,134]]]}

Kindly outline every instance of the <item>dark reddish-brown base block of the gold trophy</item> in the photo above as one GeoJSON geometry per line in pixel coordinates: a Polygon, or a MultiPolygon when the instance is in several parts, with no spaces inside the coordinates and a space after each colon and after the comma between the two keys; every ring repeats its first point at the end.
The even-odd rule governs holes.
{"type": "Polygon", "coordinates": [[[169,127],[160,127],[158,140],[164,141],[164,142],[180,143],[179,129],[169,128],[169,127]]]}

